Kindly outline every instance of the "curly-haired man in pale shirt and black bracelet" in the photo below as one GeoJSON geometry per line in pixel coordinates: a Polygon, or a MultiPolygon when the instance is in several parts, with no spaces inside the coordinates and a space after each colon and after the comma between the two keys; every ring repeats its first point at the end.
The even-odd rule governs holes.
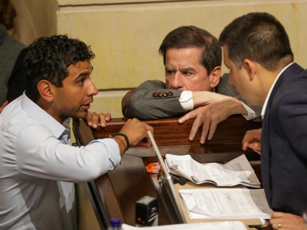
{"type": "Polygon", "coordinates": [[[130,144],[150,145],[152,127],[137,119],[109,139],[69,145],[68,119],[84,119],[98,93],[93,58],[84,42],[65,35],[28,48],[27,89],[0,114],[0,229],[77,229],[74,183],[113,170],[130,144]]]}

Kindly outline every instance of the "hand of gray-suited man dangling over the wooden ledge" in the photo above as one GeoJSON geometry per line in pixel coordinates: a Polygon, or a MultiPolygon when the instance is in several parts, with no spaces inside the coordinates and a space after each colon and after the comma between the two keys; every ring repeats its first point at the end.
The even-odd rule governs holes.
{"type": "Polygon", "coordinates": [[[190,131],[189,140],[190,141],[194,140],[194,137],[198,129],[202,125],[203,129],[201,135],[201,144],[205,143],[207,135],[208,135],[208,140],[211,140],[216,130],[217,124],[227,119],[230,115],[234,114],[233,112],[235,110],[232,109],[233,107],[232,105],[236,103],[234,102],[234,100],[236,99],[230,99],[218,103],[205,105],[203,107],[194,109],[185,114],[185,116],[181,117],[178,120],[180,124],[184,123],[189,119],[196,118],[190,131]]]}

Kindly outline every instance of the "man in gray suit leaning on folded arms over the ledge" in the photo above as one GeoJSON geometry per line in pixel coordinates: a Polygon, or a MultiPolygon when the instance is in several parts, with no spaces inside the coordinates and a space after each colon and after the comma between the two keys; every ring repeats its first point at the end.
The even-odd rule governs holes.
{"type": "Polygon", "coordinates": [[[122,100],[124,117],[149,120],[186,113],[179,123],[196,118],[189,139],[203,125],[204,144],[207,135],[212,139],[217,124],[232,114],[243,114],[248,120],[260,116],[262,106],[247,106],[228,83],[228,74],[221,77],[222,50],[206,30],[179,27],[166,35],[159,53],[166,83],[150,80],[130,90],[122,100]]]}

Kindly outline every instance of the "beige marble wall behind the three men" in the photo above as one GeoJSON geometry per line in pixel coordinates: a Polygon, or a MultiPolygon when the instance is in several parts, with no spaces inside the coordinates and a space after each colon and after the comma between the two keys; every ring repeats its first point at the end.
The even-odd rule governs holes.
{"type": "Polygon", "coordinates": [[[118,89],[136,87],[147,79],[164,80],[158,48],[170,30],[182,25],[202,27],[218,37],[235,17],[266,11],[286,28],[295,60],[304,67],[307,65],[306,0],[58,0],[58,5],[57,33],[78,37],[92,45],[96,54],[92,79],[99,89],[110,90],[95,98],[92,109],[111,111],[113,117],[122,116],[120,101],[124,91],[118,93],[118,89]]]}

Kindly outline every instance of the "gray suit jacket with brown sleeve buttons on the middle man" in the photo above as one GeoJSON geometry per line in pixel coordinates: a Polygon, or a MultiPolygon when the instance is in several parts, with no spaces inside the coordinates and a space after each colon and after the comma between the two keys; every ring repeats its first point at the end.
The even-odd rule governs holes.
{"type": "MultiPolygon", "coordinates": [[[[246,102],[240,97],[233,85],[228,83],[228,74],[225,74],[218,86],[216,92],[237,98],[240,101],[246,102]]],[[[185,111],[178,98],[183,90],[180,89],[166,89],[166,84],[158,80],[145,81],[136,88],[134,95],[125,110],[124,117],[138,118],[144,120],[161,119],[169,117],[182,116],[185,111]],[[171,96],[167,97],[153,97],[153,93],[168,93],[171,96]]],[[[262,106],[251,106],[251,108],[260,116],[262,106]]]]}

